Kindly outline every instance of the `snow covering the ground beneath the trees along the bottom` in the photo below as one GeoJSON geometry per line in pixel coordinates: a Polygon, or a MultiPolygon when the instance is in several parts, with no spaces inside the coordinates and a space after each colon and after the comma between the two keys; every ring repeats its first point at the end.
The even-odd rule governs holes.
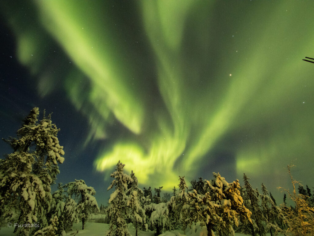
{"type": "MultiPolygon", "coordinates": [[[[82,230],[82,223],[74,223],[73,224],[73,230],[67,232],[67,236],[70,236],[71,233],[76,233],[78,230],[78,234],[76,236],[105,236],[106,231],[109,229],[108,224],[103,223],[94,223],[94,222],[86,222],[85,229],[82,230]]],[[[14,227],[8,228],[8,227],[2,227],[0,230],[0,236],[15,236],[13,233],[14,227]]],[[[129,227],[129,232],[132,236],[135,236],[135,229],[133,227],[129,227]]],[[[73,235],[73,234],[72,234],[73,235]]],[[[183,234],[182,231],[172,231],[172,232],[166,232],[163,234],[160,234],[160,236],[203,236],[207,235],[204,234],[203,230],[197,229],[195,232],[187,232],[187,234],[183,234]]],[[[266,234],[267,236],[270,235],[270,233],[266,234]]],[[[149,231],[138,231],[138,236],[154,236],[154,232],[149,231]]],[[[246,234],[242,233],[236,233],[236,236],[247,236],[246,234]]]]}

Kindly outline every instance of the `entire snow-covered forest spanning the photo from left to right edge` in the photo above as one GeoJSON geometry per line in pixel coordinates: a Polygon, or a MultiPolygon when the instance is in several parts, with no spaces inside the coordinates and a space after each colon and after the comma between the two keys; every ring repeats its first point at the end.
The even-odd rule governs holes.
{"type": "Polygon", "coordinates": [[[228,183],[215,172],[210,180],[199,177],[189,184],[179,176],[172,194],[162,197],[162,186],[155,186],[154,194],[151,187],[139,188],[136,173],[124,173],[120,160],[111,174],[107,190],[113,192],[106,206],[98,206],[95,189],[84,180],[58,183],[52,193],[58,165],[64,161],[59,131],[50,114],[43,112],[39,120],[35,107],[17,137],[3,139],[13,152],[0,159],[0,234],[12,227],[13,235],[19,236],[70,235],[79,222],[80,232],[71,235],[80,234],[98,214],[103,217],[101,223],[108,224],[101,235],[108,236],[129,236],[130,228],[133,236],[148,235],[145,232],[155,236],[314,235],[314,192],[293,178],[293,164],[287,167],[292,190],[281,188],[284,200],[280,205],[263,183],[261,191],[254,189],[246,174],[243,186],[238,179],[228,183]]]}

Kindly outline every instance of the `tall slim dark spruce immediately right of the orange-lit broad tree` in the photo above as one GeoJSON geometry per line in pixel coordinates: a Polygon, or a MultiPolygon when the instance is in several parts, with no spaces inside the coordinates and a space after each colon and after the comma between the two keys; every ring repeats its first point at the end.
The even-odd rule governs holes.
{"type": "Polygon", "coordinates": [[[263,215],[262,209],[259,205],[259,192],[252,188],[249,183],[250,178],[243,174],[244,186],[242,190],[244,205],[252,212],[252,222],[243,221],[242,233],[251,233],[253,236],[258,233],[260,236],[265,235],[265,227],[263,222],[265,222],[265,217],[263,215]]]}

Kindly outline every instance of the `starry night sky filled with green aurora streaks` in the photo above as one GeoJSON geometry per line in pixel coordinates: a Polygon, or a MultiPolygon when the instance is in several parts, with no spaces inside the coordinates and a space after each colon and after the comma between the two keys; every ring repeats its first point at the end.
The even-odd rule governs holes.
{"type": "MultiPolygon", "coordinates": [[[[243,173],[314,187],[314,1],[1,1],[0,137],[46,109],[57,182],[106,204],[118,160],[141,187],[243,173]]],[[[1,153],[10,153],[0,144],[1,153]]],[[[165,191],[164,191],[165,192],[165,191]]]]}

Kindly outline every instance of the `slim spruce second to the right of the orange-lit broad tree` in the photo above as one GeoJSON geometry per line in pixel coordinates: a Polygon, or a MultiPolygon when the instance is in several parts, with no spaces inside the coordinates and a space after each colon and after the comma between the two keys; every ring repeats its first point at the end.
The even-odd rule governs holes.
{"type": "Polygon", "coordinates": [[[283,215],[280,208],[277,208],[273,199],[268,196],[268,190],[265,185],[262,183],[262,192],[260,198],[262,200],[262,213],[265,217],[265,228],[270,232],[270,235],[278,235],[278,232],[281,231],[281,228],[278,225],[280,219],[283,219],[283,215]]]}

